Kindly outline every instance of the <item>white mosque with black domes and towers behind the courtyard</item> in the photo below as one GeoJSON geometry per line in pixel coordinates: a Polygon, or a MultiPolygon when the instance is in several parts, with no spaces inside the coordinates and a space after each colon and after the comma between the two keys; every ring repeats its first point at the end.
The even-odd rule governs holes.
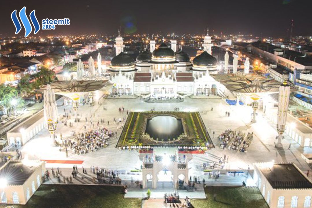
{"type": "Polygon", "coordinates": [[[142,95],[150,98],[178,98],[183,95],[223,95],[226,88],[210,74],[218,72],[218,60],[212,56],[212,39],[204,38],[204,52],[193,62],[177,41],[171,40],[156,46],[150,41],[149,50],[140,53],[136,60],[124,53],[123,38],[115,39],[116,56],[109,71],[113,95],[142,95]]]}

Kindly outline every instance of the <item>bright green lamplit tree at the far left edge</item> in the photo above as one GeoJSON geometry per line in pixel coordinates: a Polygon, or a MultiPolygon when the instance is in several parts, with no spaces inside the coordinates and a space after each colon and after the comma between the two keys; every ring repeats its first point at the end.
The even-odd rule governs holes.
{"type": "Polygon", "coordinates": [[[18,104],[18,101],[16,103],[12,102],[12,100],[17,98],[18,93],[15,87],[12,87],[10,85],[0,85],[0,105],[4,108],[7,115],[10,114],[14,105],[18,104]]]}

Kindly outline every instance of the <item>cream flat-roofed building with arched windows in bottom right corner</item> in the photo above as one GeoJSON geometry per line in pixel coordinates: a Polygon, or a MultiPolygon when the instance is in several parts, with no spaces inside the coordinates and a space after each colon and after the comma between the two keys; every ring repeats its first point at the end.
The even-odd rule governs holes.
{"type": "Polygon", "coordinates": [[[311,207],[312,181],[294,163],[254,166],[254,180],[270,208],[311,207]]]}

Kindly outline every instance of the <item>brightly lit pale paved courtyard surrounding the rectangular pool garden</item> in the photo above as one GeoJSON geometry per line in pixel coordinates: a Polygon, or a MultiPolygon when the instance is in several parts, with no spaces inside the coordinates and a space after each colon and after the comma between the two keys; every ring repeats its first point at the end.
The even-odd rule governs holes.
{"type": "MultiPolygon", "coordinates": [[[[140,170],[143,157],[145,153],[137,151],[119,151],[116,148],[122,125],[124,125],[127,118],[127,111],[174,111],[174,108],[179,108],[179,111],[198,111],[201,114],[202,120],[207,128],[208,133],[212,139],[215,148],[209,149],[204,154],[185,154],[188,157],[189,176],[199,177],[200,181],[205,179],[205,183],[210,186],[237,186],[245,181],[247,186],[254,186],[251,179],[254,162],[295,162],[295,164],[304,172],[311,168],[308,164],[301,159],[302,152],[311,152],[311,148],[302,148],[299,144],[295,143],[290,137],[285,136],[282,141],[283,149],[276,149],[274,147],[275,136],[277,135],[275,126],[258,110],[256,117],[257,122],[251,123],[252,108],[250,106],[230,106],[223,99],[208,98],[208,99],[193,99],[186,97],[183,102],[179,103],[146,103],[139,98],[134,99],[105,99],[101,97],[95,100],[94,106],[80,105],[78,109],[78,117],[81,118],[80,122],[74,122],[74,112],[71,106],[62,105],[63,100],[57,101],[58,114],[62,115],[64,112],[71,111],[71,119],[67,120],[67,126],[64,123],[58,123],[56,128],[56,136],[59,138],[60,133],[62,137],[70,137],[72,132],[84,131],[84,126],[87,130],[97,127],[97,122],[104,119],[100,127],[108,128],[112,131],[117,131],[117,135],[108,139],[109,146],[101,148],[95,152],[89,152],[82,155],[77,155],[70,148],[68,148],[68,157],[64,149],[60,151],[59,147],[55,147],[53,139],[50,138],[49,132],[44,129],[39,132],[32,140],[26,143],[22,148],[22,157],[28,159],[46,160],[46,167],[51,170],[53,167],[61,169],[64,176],[70,177],[73,170],[73,165],[77,165],[80,172],[82,167],[87,170],[87,175],[84,178],[88,180],[73,179],[73,183],[93,183],[92,179],[95,175],[91,173],[90,167],[97,166],[105,168],[106,170],[115,170],[120,172],[130,172],[130,174],[119,174],[122,183],[127,183],[129,186],[136,187],[134,181],[142,180],[141,172],[131,172],[131,170],[140,170]],[[101,103],[101,105],[99,104],[101,103]],[[105,107],[105,109],[104,109],[105,107]],[[124,107],[124,112],[119,112],[119,107],[124,107]],[[64,111],[65,109],[65,111],[64,111]],[[213,110],[211,110],[213,109],[213,110]],[[226,112],[230,112],[230,116],[226,116],[226,112]],[[87,117],[88,122],[85,122],[87,117]],[[90,122],[92,117],[93,123],[90,122]],[[114,122],[115,119],[121,118],[122,122],[114,122]],[[109,121],[109,125],[107,124],[109,121]],[[70,126],[72,123],[72,126],[70,126]],[[93,126],[94,125],[94,126],[93,126]],[[219,148],[220,141],[217,139],[218,135],[226,129],[242,131],[246,134],[248,132],[254,133],[254,139],[248,148],[247,152],[234,152],[228,149],[219,148]],[[215,132],[213,134],[213,132],[215,132]],[[288,146],[291,143],[291,149],[288,146]],[[225,167],[220,170],[220,177],[218,179],[209,179],[207,174],[204,174],[202,164],[215,162],[219,163],[222,157],[228,158],[225,162],[225,167]],[[248,166],[250,171],[247,174],[248,166]],[[236,174],[229,174],[228,171],[243,172],[236,174]]],[[[60,121],[59,121],[60,122],[60,121]]],[[[148,157],[152,157],[152,153],[147,153],[148,157]]],[[[180,154],[182,155],[182,154],[180,154]]],[[[209,165],[207,165],[209,167],[209,165]]],[[[218,166],[212,171],[219,171],[218,166]]],[[[50,172],[51,173],[51,172],[50,172]]],[[[50,174],[51,177],[51,174],[50,174]]],[[[96,176],[95,176],[96,177],[96,176]]],[[[51,177],[52,178],[52,177],[51,177]]],[[[192,179],[193,180],[193,179],[192,179]]],[[[46,183],[58,183],[52,178],[46,183]]],[[[63,183],[63,182],[61,182],[63,183]]]]}

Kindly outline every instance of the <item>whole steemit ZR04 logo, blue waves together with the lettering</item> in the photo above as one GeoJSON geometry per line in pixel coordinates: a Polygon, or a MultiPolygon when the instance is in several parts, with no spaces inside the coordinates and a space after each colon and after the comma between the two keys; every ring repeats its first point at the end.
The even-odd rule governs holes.
{"type": "MultiPolygon", "coordinates": [[[[15,26],[15,34],[19,33],[22,29],[21,23],[17,18],[17,14],[16,14],[16,10],[14,10],[11,13],[11,19],[13,21],[13,24],[15,26]]],[[[40,30],[40,25],[39,22],[37,20],[37,17],[35,15],[35,10],[32,10],[32,12],[30,13],[29,17],[30,20],[32,21],[32,25],[29,22],[29,19],[26,15],[26,7],[23,7],[20,12],[18,13],[21,22],[25,28],[25,37],[29,36],[29,34],[32,32],[32,25],[35,28],[34,34],[37,34],[37,32],[40,30]]],[[[42,30],[54,30],[56,25],[70,25],[70,19],[68,18],[64,18],[64,19],[43,19],[41,21],[41,29],[42,30]]]]}

